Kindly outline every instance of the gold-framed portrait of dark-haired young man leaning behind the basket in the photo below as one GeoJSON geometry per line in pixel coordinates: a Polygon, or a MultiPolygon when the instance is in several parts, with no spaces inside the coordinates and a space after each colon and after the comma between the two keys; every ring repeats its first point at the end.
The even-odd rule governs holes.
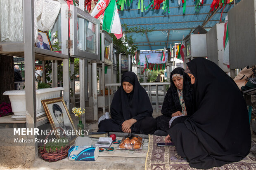
{"type": "Polygon", "coordinates": [[[60,127],[63,132],[55,133],[59,139],[66,137],[71,143],[76,139],[76,128],[62,97],[41,100],[52,129],[60,127]]]}

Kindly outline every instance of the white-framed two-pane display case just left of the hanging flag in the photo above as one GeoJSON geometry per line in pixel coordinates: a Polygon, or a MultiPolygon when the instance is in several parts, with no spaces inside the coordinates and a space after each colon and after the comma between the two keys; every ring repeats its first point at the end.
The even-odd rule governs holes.
{"type": "Polygon", "coordinates": [[[100,60],[100,21],[78,7],[70,9],[71,56],[100,60]]]}

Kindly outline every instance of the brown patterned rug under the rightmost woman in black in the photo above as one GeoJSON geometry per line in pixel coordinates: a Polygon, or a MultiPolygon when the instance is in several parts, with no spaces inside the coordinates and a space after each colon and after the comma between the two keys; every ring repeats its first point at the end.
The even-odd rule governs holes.
{"type": "MultiPolygon", "coordinates": [[[[175,147],[157,147],[156,143],[164,142],[164,136],[149,135],[146,170],[197,170],[181,158],[175,147]]],[[[251,151],[242,161],[213,167],[209,170],[256,170],[256,143],[252,140],[251,151]]]]}

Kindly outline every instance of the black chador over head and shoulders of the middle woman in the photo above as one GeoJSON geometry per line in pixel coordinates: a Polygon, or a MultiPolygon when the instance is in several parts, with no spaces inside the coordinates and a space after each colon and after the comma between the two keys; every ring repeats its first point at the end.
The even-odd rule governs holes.
{"type": "Polygon", "coordinates": [[[177,87],[175,86],[172,80],[172,76],[174,74],[183,75],[183,99],[185,102],[187,115],[189,116],[193,113],[192,112],[193,85],[191,84],[190,77],[186,73],[184,73],[183,68],[175,68],[171,72],[171,76],[170,76],[171,85],[168,88],[168,91],[165,95],[161,112],[162,114],[168,117],[171,117],[171,114],[177,111],[182,112],[177,87]]]}

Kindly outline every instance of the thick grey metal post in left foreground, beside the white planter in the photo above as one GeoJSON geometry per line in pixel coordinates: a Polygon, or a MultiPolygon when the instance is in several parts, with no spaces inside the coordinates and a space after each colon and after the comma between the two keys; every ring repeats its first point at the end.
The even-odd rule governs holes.
{"type": "MultiPolygon", "coordinates": [[[[35,87],[35,35],[34,35],[34,1],[24,0],[23,3],[23,38],[25,61],[25,98],[26,98],[26,127],[36,128],[36,87],[35,87]]],[[[35,135],[27,135],[28,139],[35,141],[35,135]]],[[[38,155],[37,143],[31,156],[36,159],[38,155]]]]}

